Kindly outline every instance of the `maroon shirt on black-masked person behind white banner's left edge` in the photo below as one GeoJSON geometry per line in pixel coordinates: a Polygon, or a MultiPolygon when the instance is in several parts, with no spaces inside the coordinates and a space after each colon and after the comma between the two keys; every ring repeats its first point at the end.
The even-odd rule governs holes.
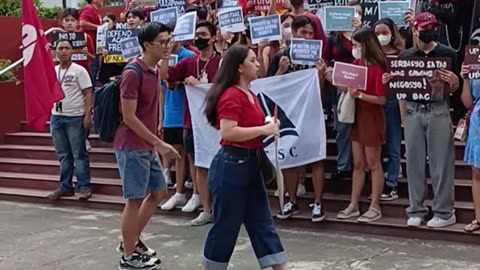
{"type": "MultiPolygon", "coordinates": [[[[168,68],[168,81],[172,84],[176,82],[183,82],[186,78],[193,76],[196,79],[200,80],[202,76],[202,70],[205,69],[207,73],[208,83],[213,82],[213,78],[218,71],[218,66],[222,57],[217,53],[208,61],[202,61],[200,56],[192,56],[185,58],[182,61],[178,62],[177,65],[168,68]],[[198,65],[198,69],[197,69],[198,65]]],[[[192,120],[190,116],[190,110],[188,109],[187,95],[185,95],[185,104],[183,106],[183,127],[187,129],[192,128],[192,120]]],[[[203,112],[196,112],[203,113],[203,112]]]]}

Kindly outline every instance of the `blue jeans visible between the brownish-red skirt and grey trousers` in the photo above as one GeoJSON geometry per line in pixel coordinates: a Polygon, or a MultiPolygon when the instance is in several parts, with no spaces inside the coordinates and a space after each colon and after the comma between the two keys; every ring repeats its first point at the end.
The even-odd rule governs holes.
{"type": "Polygon", "coordinates": [[[385,184],[391,188],[398,186],[398,172],[400,170],[400,151],[402,144],[402,123],[398,100],[387,100],[383,110],[387,125],[386,142],[383,146],[384,156],[388,159],[385,184]]]}

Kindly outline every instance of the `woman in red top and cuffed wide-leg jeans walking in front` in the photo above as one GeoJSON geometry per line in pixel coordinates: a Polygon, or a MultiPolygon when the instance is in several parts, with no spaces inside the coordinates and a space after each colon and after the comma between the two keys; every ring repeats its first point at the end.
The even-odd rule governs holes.
{"type": "Polygon", "coordinates": [[[278,125],[265,124],[259,102],[248,90],[259,66],[247,46],[232,46],[207,94],[205,114],[208,122],[220,130],[222,148],[208,173],[213,226],[204,248],[206,270],[227,269],[242,223],[260,267],[287,269],[260,173],[262,139],[278,136],[278,125]]]}

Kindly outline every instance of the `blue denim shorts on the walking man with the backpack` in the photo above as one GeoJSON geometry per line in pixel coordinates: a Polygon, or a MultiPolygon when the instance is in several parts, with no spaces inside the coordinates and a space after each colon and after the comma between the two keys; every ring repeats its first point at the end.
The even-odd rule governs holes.
{"type": "Polygon", "coordinates": [[[122,179],[123,198],[143,199],[150,192],[167,189],[157,153],[123,149],[115,150],[115,156],[122,179]]]}

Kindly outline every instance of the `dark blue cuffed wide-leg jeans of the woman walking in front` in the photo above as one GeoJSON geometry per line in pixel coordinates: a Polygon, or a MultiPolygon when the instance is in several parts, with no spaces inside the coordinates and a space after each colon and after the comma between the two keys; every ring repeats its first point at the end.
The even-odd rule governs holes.
{"type": "Polygon", "coordinates": [[[205,242],[205,268],[227,269],[242,223],[262,269],[284,264],[258,153],[234,147],[220,149],[210,165],[208,185],[213,195],[213,226],[205,242]]]}

